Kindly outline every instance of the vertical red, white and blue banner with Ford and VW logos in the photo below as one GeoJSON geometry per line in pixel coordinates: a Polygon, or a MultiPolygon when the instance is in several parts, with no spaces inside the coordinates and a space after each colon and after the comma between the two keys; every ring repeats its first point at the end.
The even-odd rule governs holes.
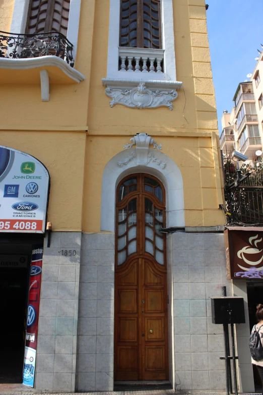
{"type": "Polygon", "coordinates": [[[30,266],[26,346],[23,369],[23,384],[29,387],[34,386],[35,380],[42,259],[43,245],[33,245],[30,266]]]}

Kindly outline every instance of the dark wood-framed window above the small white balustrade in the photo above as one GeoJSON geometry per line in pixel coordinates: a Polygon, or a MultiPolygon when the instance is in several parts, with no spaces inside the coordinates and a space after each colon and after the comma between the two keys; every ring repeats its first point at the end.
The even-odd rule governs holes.
{"type": "Polygon", "coordinates": [[[162,48],[160,0],[121,0],[119,45],[162,48]]]}

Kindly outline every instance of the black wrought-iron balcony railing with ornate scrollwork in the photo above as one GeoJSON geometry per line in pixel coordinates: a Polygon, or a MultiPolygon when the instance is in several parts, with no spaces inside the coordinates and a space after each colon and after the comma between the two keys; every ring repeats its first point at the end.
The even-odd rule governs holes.
{"type": "Polygon", "coordinates": [[[15,34],[0,31],[0,58],[26,59],[53,55],[74,67],[72,43],[61,33],[15,34]]]}

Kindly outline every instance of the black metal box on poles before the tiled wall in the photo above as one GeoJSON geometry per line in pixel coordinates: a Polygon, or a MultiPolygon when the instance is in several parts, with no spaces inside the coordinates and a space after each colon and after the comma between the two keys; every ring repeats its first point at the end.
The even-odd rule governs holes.
{"type": "Polygon", "coordinates": [[[211,298],[213,324],[244,324],[244,299],[238,297],[211,298]]]}

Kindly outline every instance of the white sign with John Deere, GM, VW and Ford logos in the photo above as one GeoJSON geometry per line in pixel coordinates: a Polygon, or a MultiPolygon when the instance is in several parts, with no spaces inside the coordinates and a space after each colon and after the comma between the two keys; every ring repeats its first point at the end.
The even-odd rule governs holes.
{"type": "Polygon", "coordinates": [[[44,233],[48,190],[39,160],[0,145],[0,232],[44,233]]]}

